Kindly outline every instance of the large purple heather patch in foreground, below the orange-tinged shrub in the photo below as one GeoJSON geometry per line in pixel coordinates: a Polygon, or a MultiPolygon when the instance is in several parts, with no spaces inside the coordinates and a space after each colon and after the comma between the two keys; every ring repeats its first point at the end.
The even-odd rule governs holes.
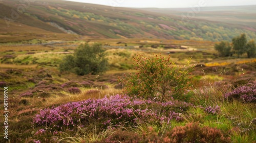
{"type": "Polygon", "coordinates": [[[148,118],[169,123],[173,119],[182,120],[180,113],[172,109],[182,110],[189,106],[192,105],[179,101],[161,103],[152,100],[132,100],[130,97],[117,94],[109,98],[70,102],[40,110],[40,114],[34,117],[33,123],[36,126],[47,125],[56,130],[61,130],[62,127],[69,129],[76,126],[83,127],[95,121],[102,123],[105,127],[110,124],[116,126],[136,124],[148,118]]]}

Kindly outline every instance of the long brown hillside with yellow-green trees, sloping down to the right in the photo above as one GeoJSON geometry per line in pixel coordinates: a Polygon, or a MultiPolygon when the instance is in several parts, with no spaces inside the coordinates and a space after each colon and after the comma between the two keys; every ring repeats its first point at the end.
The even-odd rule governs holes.
{"type": "MultiPolygon", "coordinates": [[[[232,37],[241,33],[246,33],[249,38],[256,37],[256,28],[252,26],[205,19],[184,20],[175,12],[113,8],[59,0],[30,1],[29,4],[20,4],[16,0],[3,0],[0,7],[0,18],[6,21],[4,18],[8,17],[10,23],[15,21],[52,33],[70,33],[91,38],[220,41],[231,40],[232,37]],[[13,19],[11,17],[13,10],[16,11],[20,5],[24,6],[24,10],[21,9],[20,12],[17,12],[18,18],[13,19]]],[[[7,27],[7,25],[1,26],[7,27]]],[[[8,32],[10,31],[2,28],[0,34],[8,35],[8,32]]],[[[34,32],[36,33],[37,30],[34,32]]],[[[16,33],[16,31],[11,33],[16,33]]]]}

